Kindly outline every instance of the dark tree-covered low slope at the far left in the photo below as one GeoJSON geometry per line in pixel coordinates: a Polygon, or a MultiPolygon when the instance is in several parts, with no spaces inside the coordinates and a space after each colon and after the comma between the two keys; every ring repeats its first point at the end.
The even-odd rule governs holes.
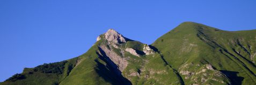
{"type": "Polygon", "coordinates": [[[24,68],[23,73],[15,74],[1,85],[34,85],[58,84],[74,68],[77,58],[64,60],[57,63],[43,64],[34,68],[24,68]]]}

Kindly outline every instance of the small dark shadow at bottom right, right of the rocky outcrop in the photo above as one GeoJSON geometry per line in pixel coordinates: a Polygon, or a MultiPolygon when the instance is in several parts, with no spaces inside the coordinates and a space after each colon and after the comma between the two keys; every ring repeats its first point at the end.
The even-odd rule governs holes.
{"type": "Polygon", "coordinates": [[[220,71],[230,79],[232,85],[240,85],[244,80],[243,77],[237,76],[239,72],[232,72],[232,71],[225,71],[225,70],[220,70],[220,71]]]}

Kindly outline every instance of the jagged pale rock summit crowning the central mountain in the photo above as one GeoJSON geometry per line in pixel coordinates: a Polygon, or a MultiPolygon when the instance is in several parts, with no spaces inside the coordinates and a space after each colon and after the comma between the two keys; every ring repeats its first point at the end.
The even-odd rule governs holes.
{"type": "Polygon", "coordinates": [[[104,36],[107,41],[115,44],[125,43],[127,41],[125,37],[116,32],[114,29],[108,29],[104,36]]]}

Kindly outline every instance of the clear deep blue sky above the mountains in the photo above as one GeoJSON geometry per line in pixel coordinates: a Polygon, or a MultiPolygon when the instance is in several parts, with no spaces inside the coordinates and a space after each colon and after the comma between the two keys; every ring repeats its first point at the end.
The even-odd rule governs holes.
{"type": "Polygon", "coordinates": [[[0,1],[0,81],[82,55],[109,28],[151,44],[184,21],[256,29],[256,1],[0,1]]]}

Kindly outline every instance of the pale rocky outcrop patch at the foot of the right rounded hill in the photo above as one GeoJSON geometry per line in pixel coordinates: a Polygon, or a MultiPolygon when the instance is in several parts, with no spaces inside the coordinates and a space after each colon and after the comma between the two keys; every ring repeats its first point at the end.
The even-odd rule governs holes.
{"type": "Polygon", "coordinates": [[[185,79],[190,79],[190,84],[209,84],[208,81],[230,84],[230,81],[225,74],[221,73],[217,69],[214,69],[214,67],[210,64],[185,64],[179,68],[179,73],[181,75],[185,75],[185,79]]]}

